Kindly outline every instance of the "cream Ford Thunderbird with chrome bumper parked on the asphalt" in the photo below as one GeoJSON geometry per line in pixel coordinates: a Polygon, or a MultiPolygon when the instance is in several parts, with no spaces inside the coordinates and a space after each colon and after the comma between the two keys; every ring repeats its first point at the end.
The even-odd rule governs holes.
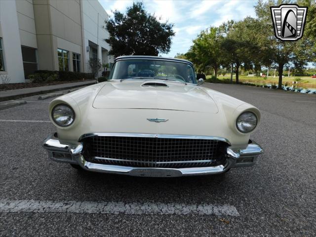
{"type": "MultiPolygon", "coordinates": [[[[115,59],[110,80],[54,99],[54,161],[89,171],[175,177],[251,166],[259,110],[197,83],[193,64],[153,56],[115,59]]],[[[199,80],[200,81],[200,80],[199,80]]]]}

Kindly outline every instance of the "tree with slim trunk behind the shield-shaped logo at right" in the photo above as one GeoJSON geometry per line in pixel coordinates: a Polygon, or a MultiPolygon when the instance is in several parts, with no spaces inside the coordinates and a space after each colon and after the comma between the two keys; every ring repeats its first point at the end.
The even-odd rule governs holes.
{"type": "Polygon", "coordinates": [[[284,67],[294,66],[296,70],[303,70],[307,62],[313,60],[313,41],[309,37],[303,36],[298,41],[281,41],[276,39],[269,8],[270,6],[277,6],[282,3],[289,3],[289,1],[259,0],[255,5],[255,11],[260,21],[257,29],[258,35],[262,34],[262,38],[258,43],[262,48],[262,53],[266,58],[269,57],[272,60],[272,66],[278,71],[278,89],[282,88],[284,67]]]}

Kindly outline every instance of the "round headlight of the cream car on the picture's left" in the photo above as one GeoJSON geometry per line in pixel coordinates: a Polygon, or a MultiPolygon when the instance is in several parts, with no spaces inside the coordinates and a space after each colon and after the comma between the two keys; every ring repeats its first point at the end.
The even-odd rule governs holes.
{"type": "Polygon", "coordinates": [[[51,118],[62,127],[67,127],[75,120],[75,112],[68,105],[56,105],[51,111],[51,118]]]}

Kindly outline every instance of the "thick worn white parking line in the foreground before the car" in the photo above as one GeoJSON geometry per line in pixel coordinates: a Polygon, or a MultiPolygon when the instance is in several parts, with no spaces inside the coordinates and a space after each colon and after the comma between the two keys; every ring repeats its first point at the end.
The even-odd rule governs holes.
{"type": "Polygon", "coordinates": [[[239,216],[231,205],[161,202],[94,202],[49,200],[0,200],[0,212],[102,213],[127,215],[226,215],[239,216]]]}

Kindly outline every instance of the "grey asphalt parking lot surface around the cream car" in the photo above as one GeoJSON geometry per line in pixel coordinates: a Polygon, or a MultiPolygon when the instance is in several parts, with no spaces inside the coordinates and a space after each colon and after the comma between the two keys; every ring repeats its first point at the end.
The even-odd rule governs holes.
{"type": "Polygon", "coordinates": [[[261,110],[252,139],[265,153],[256,166],[185,178],[80,172],[47,158],[41,142],[54,132],[52,99],[34,96],[0,111],[0,200],[229,205],[237,214],[2,211],[0,236],[316,236],[316,96],[204,86],[261,110]]]}

